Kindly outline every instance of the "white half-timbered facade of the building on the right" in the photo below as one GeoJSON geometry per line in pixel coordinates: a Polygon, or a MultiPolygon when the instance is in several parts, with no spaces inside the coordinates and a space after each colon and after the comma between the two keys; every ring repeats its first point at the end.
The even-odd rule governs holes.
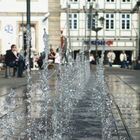
{"type": "MultiPolygon", "coordinates": [[[[112,40],[111,46],[106,45],[106,50],[127,50],[137,53],[138,41],[138,14],[131,14],[137,0],[61,0],[61,29],[64,35],[71,40],[73,50],[82,49],[83,40],[91,36],[95,40],[96,32],[88,29],[89,7],[92,5],[92,14],[98,12],[98,18],[104,17],[105,22],[98,32],[99,40],[112,40]],[[68,8],[69,7],[69,8],[68,8]],[[85,10],[84,10],[85,9],[85,10]],[[75,19],[74,18],[75,14],[75,19]],[[70,16],[68,16],[70,15],[70,16]],[[67,17],[68,16],[68,17],[67,17]],[[75,20],[75,21],[74,21],[75,20]],[[68,28],[70,22],[70,28],[68,28]],[[75,26],[75,27],[74,27],[75,26]]],[[[95,21],[95,26],[101,26],[95,21]]],[[[95,45],[91,45],[95,50],[95,45]]],[[[102,47],[98,47],[101,50],[102,47]]]]}

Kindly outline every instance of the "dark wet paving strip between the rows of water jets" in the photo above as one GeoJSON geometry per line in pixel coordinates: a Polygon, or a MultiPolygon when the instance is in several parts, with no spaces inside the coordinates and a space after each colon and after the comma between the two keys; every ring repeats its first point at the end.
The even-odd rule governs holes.
{"type": "MultiPolygon", "coordinates": [[[[94,80],[93,77],[90,78],[84,96],[74,107],[69,124],[70,130],[64,135],[64,140],[102,140],[102,117],[100,110],[96,108],[99,105],[97,98],[94,98],[97,93],[92,90],[94,80]]],[[[117,140],[117,137],[115,132],[112,133],[112,140],[117,140]]]]}

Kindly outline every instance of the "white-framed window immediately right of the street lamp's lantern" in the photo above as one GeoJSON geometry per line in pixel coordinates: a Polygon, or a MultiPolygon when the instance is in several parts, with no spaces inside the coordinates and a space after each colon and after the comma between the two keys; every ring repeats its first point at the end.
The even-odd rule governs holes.
{"type": "Polygon", "coordinates": [[[114,14],[106,14],[106,29],[114,29],[114,14]]]}

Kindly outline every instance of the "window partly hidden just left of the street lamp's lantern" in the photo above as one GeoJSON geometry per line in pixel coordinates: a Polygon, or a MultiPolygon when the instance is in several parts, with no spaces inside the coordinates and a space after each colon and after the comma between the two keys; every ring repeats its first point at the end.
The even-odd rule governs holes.
{"type": "Polygon", "coordinates": [[[88,29],[95,28],[96,21],[95,21],[95,15],[88,14],[88,23],[87,23],[88,29]]]}

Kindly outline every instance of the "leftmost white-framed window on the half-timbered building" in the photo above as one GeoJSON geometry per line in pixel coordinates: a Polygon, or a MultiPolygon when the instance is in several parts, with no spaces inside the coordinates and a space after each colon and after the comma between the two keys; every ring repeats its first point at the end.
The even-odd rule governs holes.
{"type": "Polygon", "coordinates": [[[78,15],[73,13],[69,14],[69,28],[70,29],[77,29],[78,27],[78,15]]]}

